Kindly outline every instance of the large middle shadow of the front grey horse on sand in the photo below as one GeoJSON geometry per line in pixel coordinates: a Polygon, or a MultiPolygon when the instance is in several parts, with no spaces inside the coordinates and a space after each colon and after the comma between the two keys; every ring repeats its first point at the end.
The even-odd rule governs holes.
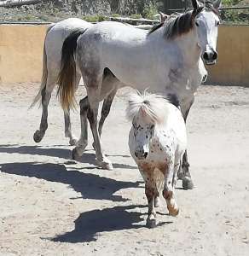
{"type": "Polygon", "coordinates": [[[40,164],[36,162],[6,163],[0,165],[0,171],[26,176],[37,177],[49,182],[68,184],[84,199],[128,201],[121,195],[113,195],[120,189],[139,187],[140,182],[117,181],[109,177],[101,177],[93,173],[67,171],[64,165],[40,164]]]}

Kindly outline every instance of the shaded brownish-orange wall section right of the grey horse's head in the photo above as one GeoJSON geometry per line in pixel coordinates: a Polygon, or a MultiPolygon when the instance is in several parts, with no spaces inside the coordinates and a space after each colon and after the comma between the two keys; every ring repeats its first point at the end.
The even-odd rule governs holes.
{"type": "Polygon", "coordinates": [[[217,51],[207,83],[249,86],[249,26],[220,26],[217,51]]]}

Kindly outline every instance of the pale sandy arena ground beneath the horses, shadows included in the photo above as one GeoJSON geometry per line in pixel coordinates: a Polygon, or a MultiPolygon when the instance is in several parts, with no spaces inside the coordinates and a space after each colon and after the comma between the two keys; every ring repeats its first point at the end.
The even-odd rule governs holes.
{"type": "MultiPolygon", "coordinates": [[[[158,209],[145,227],[142,177],[130,158],[125,93],[113,103],[102,142],[114,170],[96,168],[92,139],[70,161],[55,96],[36,144],[38,84],[0,87],[0,255],[249,255],[249,88],[201,86],[188,119],[195,189],[177,183],[177,218],[158,209]]],[[[78,90],[78,98],[84,89],[78,90]]],[[[78,112],[72,128],[79,134],[78,112]]]]}

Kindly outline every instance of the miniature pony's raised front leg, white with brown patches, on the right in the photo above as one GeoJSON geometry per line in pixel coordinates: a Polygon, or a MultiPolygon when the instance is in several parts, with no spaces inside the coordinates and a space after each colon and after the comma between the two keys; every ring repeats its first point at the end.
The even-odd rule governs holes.
{"type": "Polygon", "coordinates": [[[174,183],[176,174],[177,172],[175,172],[174,164],[171,163],[169,165],[168,172],[166,172],[165,188],[163,190],[163,195],[167,203],[169,214],[171,216],[177,216],[177,214],[179,213],[179,208],[177,207],[177,202],[174,196],[174,183]]]}

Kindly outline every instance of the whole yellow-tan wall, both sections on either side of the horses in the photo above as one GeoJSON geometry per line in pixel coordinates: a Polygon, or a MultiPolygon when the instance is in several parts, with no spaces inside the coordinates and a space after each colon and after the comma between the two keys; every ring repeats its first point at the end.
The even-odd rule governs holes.
{"type": "MultiPolygon", "coordinates": [[[[39,82],[47,25],[0,25],[0,84],[39,82]]],[[[249,86],[249,26],[220,26],[209,84],[249,86]]]]}

